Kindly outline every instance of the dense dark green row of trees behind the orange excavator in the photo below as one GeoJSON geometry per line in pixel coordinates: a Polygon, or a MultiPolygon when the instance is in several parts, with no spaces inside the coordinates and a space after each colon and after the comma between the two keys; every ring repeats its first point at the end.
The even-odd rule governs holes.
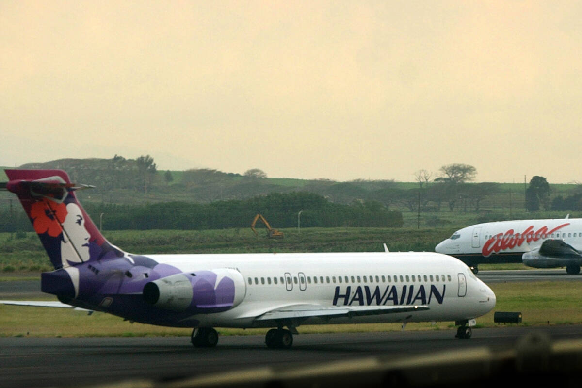
{"type": "MultiPolygon", "coordinates": [[[[155,202],[122,205],[87,202],[84,208],[97,227],[107,230],[226,229],[250,227],[261,213],[272,227],[295,227],[301,211],[303,227],[402,227],[402,213],[389,211],[377,201],[335,204],[314,193],[272,193],[247,200],[196,202],[155,202]],[[101,216],[102,215],[102,216],[101,216]],[[102,220],[102,225],[101,225],[102,220]]],[[[0,232],[32,230],[24,212],[15,217],[0,212],[0,232]]]]}

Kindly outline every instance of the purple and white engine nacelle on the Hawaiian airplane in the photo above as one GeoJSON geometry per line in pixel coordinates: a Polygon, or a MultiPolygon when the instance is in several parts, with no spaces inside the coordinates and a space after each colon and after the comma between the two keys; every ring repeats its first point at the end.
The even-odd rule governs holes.
{"type": "Polygon", "coordinates": [[[143,297],[149,304],[167,310],[209,313],[236,307],[243,301],[246,291],[239,271],[218,268],[154,280],[145,284],[143,297]]]}

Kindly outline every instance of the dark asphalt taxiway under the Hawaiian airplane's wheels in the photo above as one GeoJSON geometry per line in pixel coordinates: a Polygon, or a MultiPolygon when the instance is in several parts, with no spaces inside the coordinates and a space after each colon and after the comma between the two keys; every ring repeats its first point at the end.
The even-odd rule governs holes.
{"type": "Polygon", "coordinates": [[[475,329],[469,340],[455,330],[300,334],[291,350],[270,350],[262,336],[223,336],[216,348],[194,348],[189,337],[1,338],[1,387],[82,387],[128,379],[167,382],[249,368],[297,369],[330,361],[380,357],[385,361],[440,351],[513,348],[528,332],[552,340],[582,339],[582,326],[501,326],[475,329]]]}

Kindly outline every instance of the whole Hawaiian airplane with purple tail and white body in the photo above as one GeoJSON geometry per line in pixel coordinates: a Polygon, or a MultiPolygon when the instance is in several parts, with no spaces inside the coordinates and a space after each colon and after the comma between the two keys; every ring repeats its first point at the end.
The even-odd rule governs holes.
{"type": "Polygon", "coordinates": [[[455,321],[469,338],[495,294],[463,262],[435,252],[134,255],[109,243],[62,170],[6,170],[54,265],[41,289],[60,301],[5,304],[81,308],[127,321],[193,328],[212,347],[214,327],[273,328],[289,348],[297,326],[455,321]],[[285,329],[286,327],[286,329],[285,329]]]}

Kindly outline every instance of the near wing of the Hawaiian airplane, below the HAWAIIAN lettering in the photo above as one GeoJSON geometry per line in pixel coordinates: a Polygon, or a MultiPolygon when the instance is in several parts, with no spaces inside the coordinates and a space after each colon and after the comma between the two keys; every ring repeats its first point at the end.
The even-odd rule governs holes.
{"type": "Polygon", "coordinates": [[[293,318],[340,318],[362,315],[396,314],[398,312],[411,312],[428,310],[427,305],[408,306],[341,306],[324,307],[317,305],[292,305],[277,308],[255,318],[256,321],[269,321],[272,319],[293,319],[293,318]]]}

